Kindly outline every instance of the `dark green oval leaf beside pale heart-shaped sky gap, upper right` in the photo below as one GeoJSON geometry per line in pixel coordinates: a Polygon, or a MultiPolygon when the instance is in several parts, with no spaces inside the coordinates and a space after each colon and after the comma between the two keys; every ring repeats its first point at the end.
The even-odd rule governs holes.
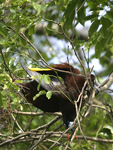
{"type": "Polygon", "coordinates": [[[89,37],[91,37],[93,35],[94,32],[97,31],[98,27],[99,27],[99,24],[100,24],[100,20],[95,20],[90,29],[89,29],[89,37]]]}

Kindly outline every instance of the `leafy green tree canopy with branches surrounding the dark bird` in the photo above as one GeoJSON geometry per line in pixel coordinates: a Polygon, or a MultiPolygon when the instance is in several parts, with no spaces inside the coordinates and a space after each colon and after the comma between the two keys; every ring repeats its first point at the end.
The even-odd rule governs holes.
{"type": "Polygon", "coordinates": [[[1,0],[1,150],[111,150],[112,45],[112,0],[1,0]],[[68,141],[61,113],[45,113],[25,101],[18,86],[28,80],[21,62],[28,67],[68,62],[83,74],[95,74],[101,92],[76,120],[78,141],[68,141]]]}

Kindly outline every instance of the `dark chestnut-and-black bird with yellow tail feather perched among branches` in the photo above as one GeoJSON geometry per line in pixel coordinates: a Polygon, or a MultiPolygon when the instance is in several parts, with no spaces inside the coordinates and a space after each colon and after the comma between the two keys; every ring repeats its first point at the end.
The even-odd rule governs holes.
{"type": "MultiPolygon", "coordinates": [[[[68,129],[76,118],[77,110],[74,101],[77,101],[86,78],[77,68],[68,63],[54,64],[51,68],[28,68],[22,63],[21,66],[30,77],[36,76],[35,80],[22,83],[22,93],[26,100],[44,112],[61,112],[64,127],[68,129]],[[49,83],[40,80],[43,75],[49,75],[49,83]],[[43,90],[52,92],[50,99],[48,100],[46,94],[43,94],[33,100],[35,95],[43,90]]],[[[91,74],[87,75],[87,78],[94,85],[95,76],[91,74]]],[[[85,90],[86,87],[83,95],[85,90]]],[[[79,108],[80,100],[77,106],[79,108]]],[[[73,128],[71,130],[74,132],[73,128]]],[[[67,137],[69,139],[68,131],[67,137]]]]}

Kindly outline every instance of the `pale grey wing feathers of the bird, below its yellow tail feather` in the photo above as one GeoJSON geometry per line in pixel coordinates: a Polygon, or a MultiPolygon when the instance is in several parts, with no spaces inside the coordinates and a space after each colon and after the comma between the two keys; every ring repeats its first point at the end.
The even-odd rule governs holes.
{"type": "MultiPolygon", "coordinates": [[[[22,68],[26,71],[26,73],[29,75],[29,76],[41,76],[42,74],[39,73],[40,71],[42,70],[39,70],[39,72],[37,72],[37,70],[35,71],[31,71],[30,69],[28,69],[24,64],[21,63],[21,66],[22,68]]],[[[46,74],[49,74],[48,70],[45,70],[47,71],[46,74]]],[[[46,90],[46,91],[53,91],[53,94],[56,95],[56,96],[61,96],[61,92],[60,90],[63,90],[65,92],[66,90],[66,87],[61,83],[61,81],[58,79],[58,78],[55,78],[55,77],[50,77],[51,78],[51,82],[50,84],[46,84],[43,80],[41,81],[41,86],[46,90]]],[[[35,79],[35,81],[37,83],[39,83],[39,78],[35,79]]]]}

